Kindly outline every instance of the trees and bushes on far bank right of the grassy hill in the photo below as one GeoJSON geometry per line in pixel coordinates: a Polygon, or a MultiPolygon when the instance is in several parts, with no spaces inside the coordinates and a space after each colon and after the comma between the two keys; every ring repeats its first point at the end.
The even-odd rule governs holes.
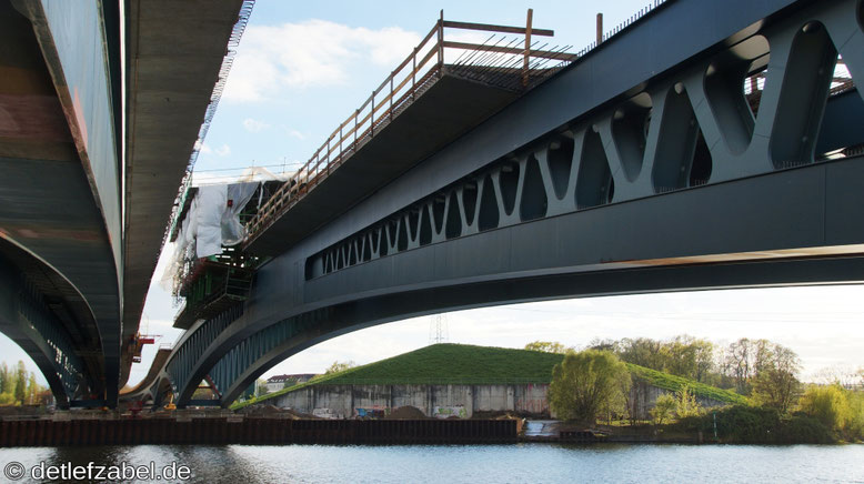
{"type": "MultiPolygon", "coordinates": [[[[667,354],[675,353],[669,346],[683,346],[684,353],[686,346],[706,346],[711,350],[707,353],[714,354],[712,343],[687,337],[647,343],[660,351],[665,347],[667,354]]],[[[655,435],[666,431],[696,433],[700,442],[731,444],[827,444],[864,440],[864,392],[847,390],[838,382],[802,384],[797,380],[798,357],[784,346],[765,340],[732,343],[721,353],[719,367],[707,365],[702,375],[706,381],[741,389],[747,395],[741,395],[743,401],[726,400],[729,405],[703,407],[695,397],[697,385],[685,382],[686,379],[659,370],[634,371],[632,363],[623,362],[632,357],[629,351],[633,345],[633,341],[625,341],[581,352],[566,350],[562,362],[553,369],[552,410],[586,426],[594,425],[604,414],[611,424],[614,415],[619,421],[629,420],[622,431],[625,426],[632,431],[636,427],[629,402],[632,382],[677,380],[679,390],[659,395],[654,401],[651,416],[656,425],[655,435]]],[[[663,364],[661,367],[667,370],[680,364],[680,360],[666,357],[663,364]]],[[[720,391],[714,389],[713,393],[720,391]]]]}

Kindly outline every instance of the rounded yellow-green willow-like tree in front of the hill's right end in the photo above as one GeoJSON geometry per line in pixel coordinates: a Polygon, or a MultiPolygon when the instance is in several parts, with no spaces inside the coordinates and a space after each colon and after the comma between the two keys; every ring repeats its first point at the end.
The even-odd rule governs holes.
{"type": "Polygon", "coordinates": [[[602,410],[623,410],[630,384],[627,366],[614,354],[571,351],[552,370],[550,406],[561,419],[593,425],[602,410]]]}

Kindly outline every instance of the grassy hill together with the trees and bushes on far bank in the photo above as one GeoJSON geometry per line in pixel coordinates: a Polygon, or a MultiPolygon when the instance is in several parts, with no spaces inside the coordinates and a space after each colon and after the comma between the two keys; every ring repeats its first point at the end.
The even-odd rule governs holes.
{"type": "MultiPolygon", "coordinates": [[[[844,389],[838,383],[802,384],[796,377],[797,356],[771,342],[740,340],[717,351],[719,346],[704,340],[679,336],[666,342],[622,340],[599,342],[594,346],[575,352],[549,342],[530,343],[528,350],[436,344],[320,375],[303,384],[235,403],[231,409],[239,411],[249,405],[269,404],[271,399],[312,385],[530,382],[549,383],[554,387],[554,369],[562,365],[567,355],[590,352],[594,357],[611,356],[625,369],[622,374],[626,374],[627,383],[604,383],[617,386],[620,392],[610,401],[597,404],[591,417],[562,412],[561,405],[555,407],[550,391],[550,405],[562,419],[562,428],[594,428],[603,434],[633,435],[653,442],[694,441],[696,435],[701,435],[701,442],[722,444],[828,444],[864,440],[864,392],[844,389]],[[645,347],[653,347],[654,353],[665,352],[666,356],[652,360],[649,357],[652,352],[644,351],[645,347]],[[694,357],[697,353],[702,355],[694,357]],[[640,354],[641,360],[633,354],[640,354]],[[739,355],[737,361],[733,354],[739,355]],[[692,364],[681,363],[687,359],[692,364]],[[636,364],[633,362],[636,360],[659,367],[636,364]],[[673,366],[680,369],[679,373],[699,374],[702,381],[674,374],[670,371],[673,366]],[[651,420],[631,419],[627,412],[624,389],[640,382],[666,391],[656,399],[651,420]],[[697,399],[710,399],[723,405],[702,407],[697,399]]],[[[574,374],[584,375],[584,371],[574,374]]]]}

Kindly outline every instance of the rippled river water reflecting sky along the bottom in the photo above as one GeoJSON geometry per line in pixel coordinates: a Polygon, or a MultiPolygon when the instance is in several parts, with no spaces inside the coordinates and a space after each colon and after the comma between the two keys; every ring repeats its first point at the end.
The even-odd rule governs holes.
{"type": "MultiPolygon", "coordinates": [[[[0,448],[0,466],[175,462],[225,483],[864,483],[864,445],[137,445],[0,448]]],[[[39,472],[39,471],[37,471],[39,472]]],[[[58,471],[59,472],[59,471],[58,471]]],[[[119,472],[119,471],[117,471],[119,472]]],[[[0,482],[12,482],[7,477],[0,482]]],[[[46,482],[27,475],[14,482],[46,482]]],[[[52,482],[63,482],[54,480],[52,482]]],[[[142,482],[129,480],[127,482],[142,482]]],[[[179,482],[179,481],[174,481],[179,482]]]]}

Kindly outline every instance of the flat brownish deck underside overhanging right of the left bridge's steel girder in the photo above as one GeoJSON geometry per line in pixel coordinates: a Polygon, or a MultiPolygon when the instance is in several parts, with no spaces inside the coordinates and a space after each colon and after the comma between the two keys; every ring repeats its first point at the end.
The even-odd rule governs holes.
{"type": "MultiPolygon", "coordinates": [[[[130,99],[123,341],[129,341],[138,332],[178,188],[215,110],[214,87],[228,75],[227,46],[234,48],[240,40],[251,3],[124,1],[130,99]]],[[[131,351],[123,354],[121,383],[127,381],[131,356],[131,351]]]]}

